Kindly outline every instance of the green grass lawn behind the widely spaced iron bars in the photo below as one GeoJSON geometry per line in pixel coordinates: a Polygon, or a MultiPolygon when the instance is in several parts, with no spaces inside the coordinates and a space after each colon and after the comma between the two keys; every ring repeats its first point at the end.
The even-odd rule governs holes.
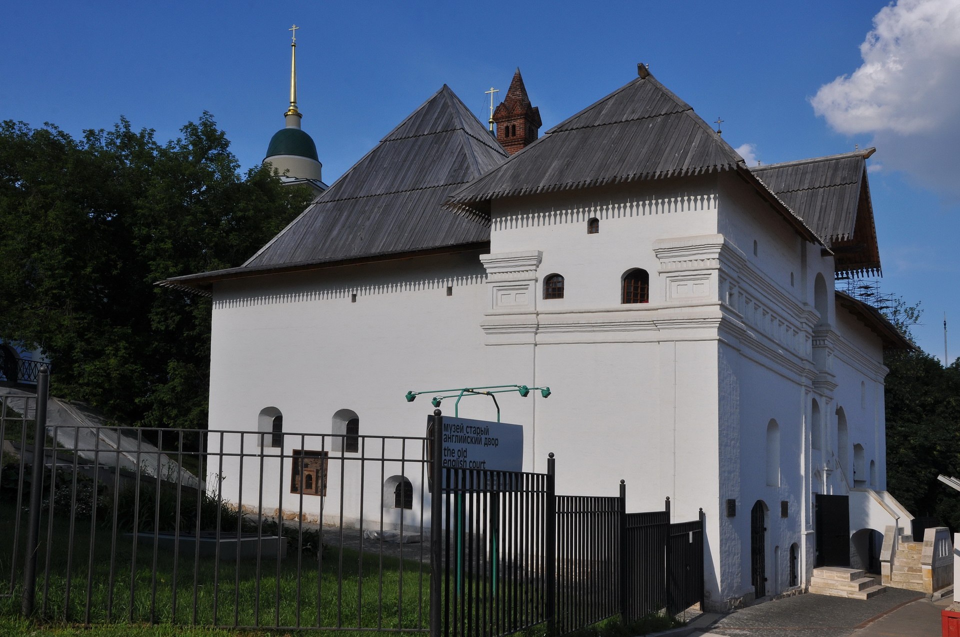
{"type": "MultiPolygon", "coordinates": [[[[0,594],[10,590],[12,513],[10,505],[0,505],[0,594]]],[[[128,629],[128,623],[349,629],[419,628],[428,622],[429,565],[417,561],[369,553],[361,559],[349,549],[328,549],[322,558],[304,556],[298,571],[291,547],[279,568],[276,555],[263,555],[259,569],[255,559],[241,560],[238,566],[213,557],[201,557],[195,569],[192,552],[181,551],[175,560],[172,551],[158,551],[155,570],[152,542],[134,546],[131,536],[119,532],[111,546],[109,530],[101,528],[94,530],[91,542],[89,522],[77,522],[71,554],[67,542],[57,541],[70,535],[68,518],[55,516],[52,547],[45,541],[48,523],[43,516],[36,582],[36,610],[44,621],[124,624],[128,629]],[[48,548],[50,576],[45,580],[48,548]]],[[[23,550],[25,526],[24,515],[18,552],[23,550]]],[[[22,569],[19,555],[13,568],[17,573],[22,569]]],[[[0,598],[0,617],[18,613],[20,588],[13,593],[0,598]]],[[[190,633],[178,631],[183,634],[190,633]]]]}

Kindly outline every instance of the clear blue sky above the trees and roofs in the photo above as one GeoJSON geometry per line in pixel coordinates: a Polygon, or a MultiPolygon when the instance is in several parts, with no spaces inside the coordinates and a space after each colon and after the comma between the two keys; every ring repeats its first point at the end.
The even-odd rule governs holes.
{"type": "Polygon", "coordinates": [[[884,290],[923,303],[915,334],[940,358],[946,311],[949,358],[960,355],[960,0],[55,1],[4,13],[0,118],[79,134],[124,115],[169,139],[209,110],[245,169],[283,125],[296,23],[303,128],[328,183],[444,83],[485,121],[484,91],[505,91],[517,66],[542,130],[643,61],[764,163],[876,143],[884,290]]]}

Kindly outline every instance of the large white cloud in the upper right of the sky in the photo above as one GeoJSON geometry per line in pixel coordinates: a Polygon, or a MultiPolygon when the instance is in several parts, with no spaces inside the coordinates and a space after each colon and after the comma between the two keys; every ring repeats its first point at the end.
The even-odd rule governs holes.
{"type": "Polygon", "coordinates": [[[960,0],[900,0],[874,16],[863,64],[824,84],[817,115],[846,134],[873,133],[884,168],[960,199],[960,0]]]}

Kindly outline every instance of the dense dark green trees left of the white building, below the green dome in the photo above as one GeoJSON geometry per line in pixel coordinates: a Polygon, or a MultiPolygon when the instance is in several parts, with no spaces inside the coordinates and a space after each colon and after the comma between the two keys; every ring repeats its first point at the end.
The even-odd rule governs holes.
{"type": "Polygon", "coordinates": [[[39,346],[57,395],[205,427],[209,300],[156,282],[240,265],[310,197],[238,167],[205,112],[165,144],[126,119],[80,139],[0,123],[0,339],[39,346]]]}

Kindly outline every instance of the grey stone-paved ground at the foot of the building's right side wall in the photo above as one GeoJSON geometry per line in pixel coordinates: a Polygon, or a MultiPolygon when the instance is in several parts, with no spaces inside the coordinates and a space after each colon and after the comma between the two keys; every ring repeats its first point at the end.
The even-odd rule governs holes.
{"type": "MultiPolygon", "coordinates": [[[[709,632],[704,634],[724,637],[848,637],[877,616],[921,598],[921,593],[900,588],[887,588],[884,594],[871,600],[797,595],[735,610],[710,626],[709,632]]],[[[903,637],[925,636],[918,632],[906,633],[903,637]]]]}

